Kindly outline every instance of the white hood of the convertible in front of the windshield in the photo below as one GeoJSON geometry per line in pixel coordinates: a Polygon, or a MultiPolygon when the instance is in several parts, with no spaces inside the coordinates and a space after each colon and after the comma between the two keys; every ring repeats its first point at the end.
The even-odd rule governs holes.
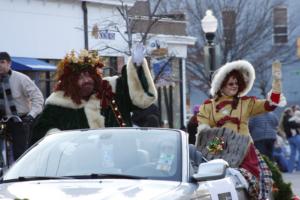
{"type": "Polygon", "coordinates": [[[0,199],[160,199],[180,182],[154,180],[47,180],[3,183],[0,199]]]}

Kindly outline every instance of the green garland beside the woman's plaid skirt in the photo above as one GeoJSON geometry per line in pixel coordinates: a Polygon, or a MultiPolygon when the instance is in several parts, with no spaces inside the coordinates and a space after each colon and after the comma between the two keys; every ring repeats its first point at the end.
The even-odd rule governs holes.
{"type": "Polygon", "coordinates": [[[285,183],[282,178],[281,171],[276,166],[274,162],[272,162],[268,157],[262,155],[263,159],[266,161],[269,169],[272,172],[272,178],[274,180],[273,186],[273,196],[275,200],[292,200],[293,199],[293,191],[291,188],[291,183],[285,183]]]}

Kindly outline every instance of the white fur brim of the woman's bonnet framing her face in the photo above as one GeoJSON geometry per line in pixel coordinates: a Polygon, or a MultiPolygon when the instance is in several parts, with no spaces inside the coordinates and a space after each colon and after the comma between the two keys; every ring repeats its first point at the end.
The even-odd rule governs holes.
{"type": "Polygon", "coordinates": [[[215,72],[211,83],[211,95],[216,95],[216,93],[221,89],[221,84],[227,74],[229,74],[234,69],[240,71],[243,74],[244,80],[246,82],[246,88],[242,92],[240,92],[239,96],[245,96],[251,90],[255,80],[254,67],[246,60],[237,60],[226,63],[215,72]]]}

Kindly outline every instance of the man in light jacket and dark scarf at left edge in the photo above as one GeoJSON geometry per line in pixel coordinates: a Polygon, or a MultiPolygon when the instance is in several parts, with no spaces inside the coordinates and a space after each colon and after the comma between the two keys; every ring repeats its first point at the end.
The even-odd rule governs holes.
{"type": "Polygon", "coordinates": [[[0,117],[10,119],[7,127],[12,137],[14,159],[26,150],[28,127],[42,112],[43,104],[40,89],[28,76],[12,70],[10,55],[0,52],[0,117]]]}

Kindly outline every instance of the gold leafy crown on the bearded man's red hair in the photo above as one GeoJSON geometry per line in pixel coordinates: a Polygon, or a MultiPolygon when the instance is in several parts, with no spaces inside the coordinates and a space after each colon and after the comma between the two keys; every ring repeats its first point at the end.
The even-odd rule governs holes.
{"type": "Polygon", "coordinates": [[[72,50],[59,62],[57,66],[57,77],[68,75],[70,73],[79,73],[83,70],[96,70],[102,68],[102,59],[98,56],[97,52],[89,52],[86,49],[76,53],[72,50]]]}

